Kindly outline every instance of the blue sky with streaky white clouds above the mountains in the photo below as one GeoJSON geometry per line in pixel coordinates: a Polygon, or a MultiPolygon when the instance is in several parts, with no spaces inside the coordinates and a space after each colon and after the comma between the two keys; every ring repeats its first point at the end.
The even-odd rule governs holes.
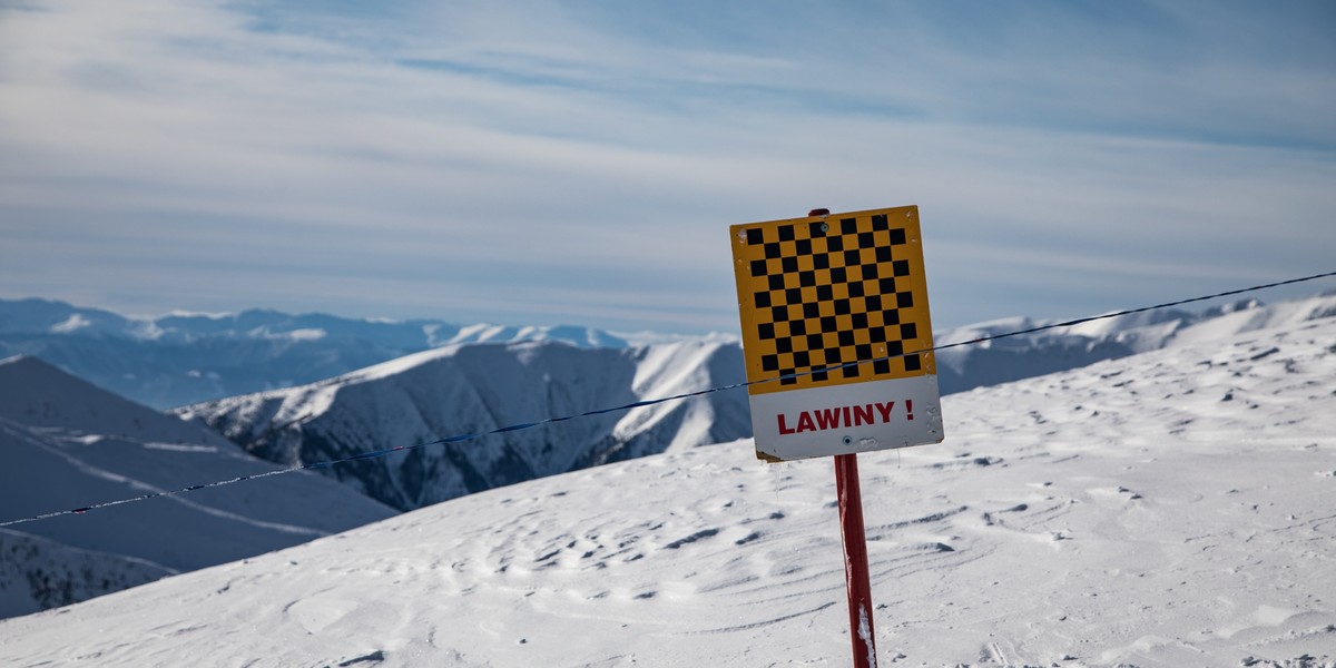
{"type": "Polygon", "coordinates": [[[1333,35],[1328,1],[0,0],[0,297],[735,331],[729,224],[902,204],[938,327],[1316,274],[1333,35]]]}

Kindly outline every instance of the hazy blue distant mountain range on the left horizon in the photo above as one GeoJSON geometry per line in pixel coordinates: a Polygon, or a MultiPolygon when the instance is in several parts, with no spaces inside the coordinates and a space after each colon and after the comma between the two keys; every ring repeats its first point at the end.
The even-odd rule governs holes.
{"type": "Polygon", "coordinates": [[[513,341],[627,346],[616,335],[574,326],[460,326],[270,310],[127,318],[64,302],[0,299],[0,358],[40,357],[158,409],[314,382],[437,346],[513,341]]]}

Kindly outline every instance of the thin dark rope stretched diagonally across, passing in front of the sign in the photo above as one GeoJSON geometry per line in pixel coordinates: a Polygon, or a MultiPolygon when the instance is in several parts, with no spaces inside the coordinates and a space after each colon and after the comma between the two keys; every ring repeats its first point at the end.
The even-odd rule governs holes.
{"type": "Polygon", "coordinates": [[[818,373],[831,373],[831,371],[838,371],[840,369],[850,367],[850,366],[859,366],[859,365],[867,365],[867,363],[875,363],[875,362],[884,362],[884,361],[896,359],[896,358],[900,358],[900,357],[904,357],[904,355],[916,355],[916,354],[923,354],[923,353],[935,353],[935,351],[939,351],[939,350],[946,350],[946,349],[959,347],[959,346],[973,346],[973,345],[983,343],[983,342],[987,342],[987,341],[997,341],[997,339],[1009,338],[1009,337],[1018,337],[1018,335],[1022,335],[1022,334],[1034,334],[1034,333],[1038,333],[1038,331],[1047,331],[1047,330],[1059,329],[1059,327],[1071,327],[1074,325],[1082,325],[1082,323],[1086,323],[1086,322],[1096,322],[1096,321],[1102,321],[1102,319],[1109,319],[1109,318],[1118,318],[1118,317],[1122,317],[1122,315],[1133,315],[1133,314],[1145,313],[1145,311],[1153,311],[1153,310],[1158,310],[1158,309],[1169,309],[1169,307],[1173,307],[1173,306],[1182,306],[1182,305],[1186,305],[1186,303],[1204,302],[1204,301],[1208,301],[1208,299],[1218,299],[1221,297],[1233,297],[1233,295],[1238,295],[1238,294],[1244,294],[1244,293],[1255,293],[1257,290],[1268,290],[1268,289],[1272,289],[1272,287],[1288,286],[1288,285],[1293,285],[1293,283],[1303,283],[1303,282],[1308,282],[1308,281],[1316,281],[1316,279],[1320,279],[1320,278],[1331,278],[1331,277],[1336,277],[1336,271],[1327,271],[1327,273],[1323,273],[1323,274],[1313,274],[1313,275],[1303,277],[1303,278],[1292,278],[1292,279],[1288,279],[1288,281],[1279,281],[1279,282],[1275,282],[1275,283],[1265,283],[1265,285],[1259,285],[1259,286],[1252,286],[1252,287],[1244,287],[1244,289],[1238,289],[1238,290],[1228,290],[1228,291],[1224,291],[1224,293],[1216,293],[1216,294],[1204,295],[1204,297],[1192,297],[1192,298],[1188,298],[1188,299],[1178,299],[1178,301],[1174,301],[1174,302],[1165,302],[1165,303],[1160,303],[1160,305],[1154,305],[1154,306],[1142,306],[1140,309],[1128,309],[1128,310],[1116,311],[1116,313],[1106,313],[1106,314],[1102,314],[1102,315],[1090,315],[1090,317],[1086,317],[1086,318],[1077,318],[1077,319],[1073,319],[1073,321],[1055,322],[1055,323],[1051,323],[1051,325],[1042,325],[1042,326],[1038,326],[1038,327],[1030,327],[1030,329],[1025,329],[1025,330],[1007,331],[1007,333],[1002,333],[1002,334],[991,334],[991,335],[987,335],[987,337],[979,337],[979,338],[970,339],[970,341],[959,341],[959,342],[955,342],[955,343],[947,343],[947,345],[942,345],[942,346],[934,346],[934,347],[919,349],[919,350],[910,350],[910,351],[900,353],[898,355],[886,355],[886,357],[879,357],[879,358],[875,358],[875,359],[860,359],[860,361],[856,361],[856,362],[846,362],[846,363],[842,363],[842,365],[828,366],[828,367],[824,367],[824,369],[814,369],[814,370],[802,371],[802,373],[792,373],[792,374],[779,375],[779,377],[775,377],[775,378],[764,378],[764,379],[760,379],[760,381],[747,381],[747,382],[739,382],[739,383],[733,383],[733,385],[723,385],[723,386],[709,387],[709,389],[704,389],[704,390],[688,391],[688,393],[683,393],[683,394],[675,394],[672,397],[659,397],[659,398],[652,398],[652,399],[636,401],[636,402],[625,403],[625,405],[621,405],[621,406],[595,409],[595,410],[588,410],[588,411],[584,411],[584,413],[577,413],[577,414],[570,414],[570,415],[552,417],[552,418],[546,418],[546,420],[540,420],[537,422],[521,422],[521,424],[516,424],[516,425],[501,426],[501,428],[493,429],[490,432],[480,432],[480,433],[476,433],[476,434],[458,434],[458,436],[452,436],[452,437],[448,437],[448,438],[440,438],[440,440],[436,440],[436,441],[428,441],[428,442],[422,442],[422,444],[417,444],[417,445],[399,445],[399,446],[394,446],[394,448],[385,448],[382,450],[371,450],[371,452],[366,452],[366,453],[361,453],[361,454],[354,454],[351,457],[345,457],[345,458],[341,458],[341,460],[330,460],[330,461],[321,461],[321,462],[313,462],[313,464],[303,464],[301,466],[291,466],[291,468],[287,468],[287,469],[277,469],[277,470],[270,470],[270,472],[265,472],[265,473],[257,473],[257,474],[253,474],[253,476],[239,476],[239,477],[235,477],[235,478],[231,478],[231,480],[220,480],[220,481],[215,481],[215,482],[206,482],[206,484],[202,484],[202,485],[191,485],[188,488],[182,488],[182,489],[151,492],[148,494],[142,494],[142,496],[131,497],[131,498],[122,498],[122,500],[116,500],[116,501],[106,501],[106,502],[102,502],[102,504],[91,504],[91,505],[86,505],[86,506],[81,506],[81,508],[72,508],[72,509],[68,509],[68,510],[55,510],[55,512],[49,512],[49,513],[36,514],[36,516],[32,516],[32,517],[23,517],[23,518],[17,518],[17,520],[8,520],[8,521],[4,521],[4,522],[0,522],[0,528],[3,528],[3,526],[13,526],[16,524],[24,524],[24,522],[36,522],[36,521],[49,520],[52,517],[61,517],[61,516],[67,516],[67,514],[84,514],[87,512],[90,512],[90,510],[99,510],[99,509],[103,509],[103,508],[111,508],[111,506],[123,505],[123,504],[132,504],[132,502],[136,502],[136,501],[147,501],[150,498],[184,494],[187,492],[195,492],[198,489],[207,489],[207,488],[218,488],[218,486],[223,486],[223,485],[232,485],[232,484],[236,484],[236,482],[244,482],[247,480],[267,478],[267,477],[271,477],[271,476],[283,476],[283,474],[287,474],[287,473],[297,473],[297,472],[302,472],[302,470],[327,469],[330,466],[335,466],[335,465],[339,465],[339,464],[347,464],[347,462],[363,461],[363,460],[377,460],[377,458],[381,458],[381,457],[385,457],[385,456],[389,456],[389,454],[393,454],[393,453],[420,450],[420,449],[430,448],[430,446],[434,446],[434,445],[448,445],[448,444],[458,444],[458,442],[465,442],[465,441],[476,441],[478,438],[484,438],[484,437],[488,437],[488,436],[504,434],[504,433],[509,433],[509,432],[520,432],[520,430],[525,430],[525,429],[533,429],[533,428],[537,428],[537,426],[553,425],[553,424],[557,424],[557,422],[565,422],[565,421],[569,421],[569,420],[580,420],[580,418],[587,418],[587,417],[593,417],[593,415],[604,415],[604,414],[608,414],[608,413],[619,413],[619,411],[624,411],[624,410],[637,409],[637,407],[641,407],[641,406],[653,406],[653,405],[657,405],[657,403],[667,403],[667,402],[671,402],[671,401],[683,401],[683,399],[689,399],[689,398],[693,398],[693,397],[701,397],[701,395],[705,395],[705,394],[713,394],[716,391],[736,390],[736,389],[748,387],[748,386],[752,386],[752,385],[762,385],[762,383],[768,383],[768,382],[779,382],[779,381],[786,379],[786,378],[799,378],[799,377],[803,377],[803,375],[811,375],[811,374],[818,374],[818,373]]]}

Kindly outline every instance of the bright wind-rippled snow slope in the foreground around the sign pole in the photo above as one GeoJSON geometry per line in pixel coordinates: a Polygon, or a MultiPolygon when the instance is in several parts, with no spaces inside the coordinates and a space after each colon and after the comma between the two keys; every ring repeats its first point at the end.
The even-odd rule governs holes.
{"type": "MultiPolygon", "coordinates": [[[[1333,378],[1327,318],[946,397],[860,457],[883,665],[1336,665],[1333,378]]],[[[846,665],[839,541],[830,462],[740,441],[7,620],[0,664],[846,665]]]]}

